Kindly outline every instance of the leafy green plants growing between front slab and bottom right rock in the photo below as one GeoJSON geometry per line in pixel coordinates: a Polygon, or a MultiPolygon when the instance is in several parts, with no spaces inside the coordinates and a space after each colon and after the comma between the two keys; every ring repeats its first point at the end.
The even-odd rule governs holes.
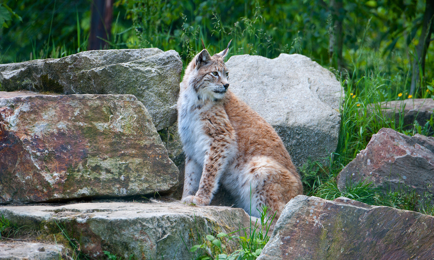
{"type": "Polygon", "coordinates": [[[269,214],[266,206],[261,208],[260,224],[256,223],[250,229],[237,230],[230,234],[220,232],[216,237],[206,235],[202,244],[191,247],[190,252],[195,253],[195,260],[255,260],[262,252],[270,237],[268,232],[273,223],[274,215],[269,214]],[[242,234],[242,235],[236,235],[242,234]],[[234,252],[225,252],[224,244],[228,240],[237,241],[239,249],[234,252]]]}

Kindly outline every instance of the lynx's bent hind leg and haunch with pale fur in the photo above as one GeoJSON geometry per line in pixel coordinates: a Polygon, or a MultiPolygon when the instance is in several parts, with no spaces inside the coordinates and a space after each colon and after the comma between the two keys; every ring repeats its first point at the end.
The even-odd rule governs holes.
{"type": "Polygon", "coordinates": [[[279,218],[286,203],[302,194],[302,184],[296,172],[292,173],[267,156],[255,156],[247,164],[243,173],[241,198],[243,208],[250,215],[260,217],[262,205],[269,214],[279,218]]]}

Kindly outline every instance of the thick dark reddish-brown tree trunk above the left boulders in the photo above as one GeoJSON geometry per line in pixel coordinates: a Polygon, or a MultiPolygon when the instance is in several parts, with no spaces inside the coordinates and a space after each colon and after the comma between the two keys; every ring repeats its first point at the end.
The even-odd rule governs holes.
{"type": "Polygon", "coordinates": [[[112,30],[113,0],[93,0],[91,4],[91,21],[88,50],[108,49],[112,30]],[[105,40],[104,40],[105,39],[105,40]]]}

